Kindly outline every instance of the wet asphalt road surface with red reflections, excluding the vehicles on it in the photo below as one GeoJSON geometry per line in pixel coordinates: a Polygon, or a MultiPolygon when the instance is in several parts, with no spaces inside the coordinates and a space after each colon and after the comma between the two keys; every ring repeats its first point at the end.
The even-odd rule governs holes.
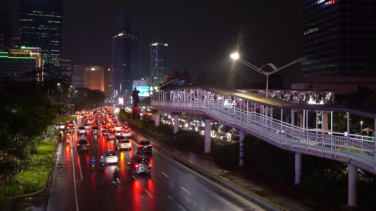
{"type": "MultiPolygon", "coordinates": [[[[116,109],[115,118],[125,123],[118,112],[119,109],[116,109]]],[[[86,136],[89,152],[77,152],[77,129],[75,133],[70,133],[70,144],[59,144],[47,210],[263,210],[155,149],[152,154],[146,155],[150,157],[152,173],[133,175],[127,170],[127,161],[137,154],[134,140],[131,140],[131,151],[119,151],[113,141],[103,136],[91,136],[90,131],[86,136]],[[117,153],[119,162],[107,164],[102,172],[100,154],[108,149],[117,153]],[[91,156],[97,160],[93,173],[89,169],[91,156]],[[120,169],[121,183],[118,187],[111,182],[111,172],[115,167],[120,169]]]]}

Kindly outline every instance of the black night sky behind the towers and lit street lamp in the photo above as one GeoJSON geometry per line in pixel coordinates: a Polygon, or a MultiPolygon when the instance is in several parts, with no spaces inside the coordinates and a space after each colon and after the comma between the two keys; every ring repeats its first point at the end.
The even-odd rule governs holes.
{"type": "MultiPolygon", "coordinates": [[[[9,3],[18,31],[19,1],[2,2],[9,3]]],[[[203,2],[64,0],[62,59],[109,68],[112,14],[121,6],[130,8],[130,19],[141,27],[141,75],[149,71],[152,37],[163,36],[169,44],[168,71],[186,69],[194,81],[197,73],[214,70],[233,51],[256,66],[274,63],[279,67],[302,55],[301,0],[203,2]]],[[[279,73],[290,87],[300,75],[300,65],[279,73]]],[[[249,82],[264,79],[257,72],[245,75],[249,82]]]]}

